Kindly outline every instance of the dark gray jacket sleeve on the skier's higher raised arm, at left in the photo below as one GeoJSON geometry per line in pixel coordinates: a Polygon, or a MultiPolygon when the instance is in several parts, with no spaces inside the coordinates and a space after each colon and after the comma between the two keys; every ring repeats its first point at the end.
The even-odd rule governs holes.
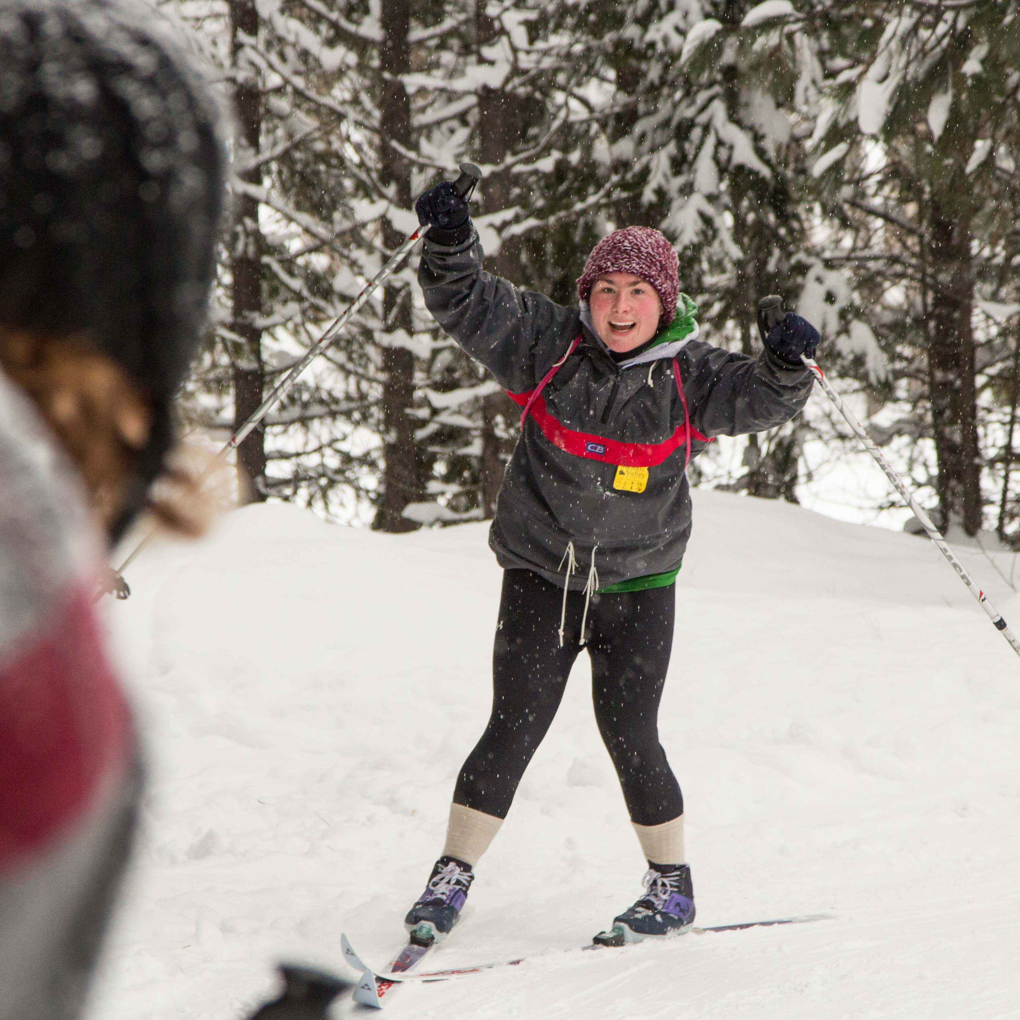
{"type": "Polygon", "coordinates": [[[426,235],[418,265],[425,307],[500,386],[524,393],[566,354],[579,332],[577,310],[486,272],[482,255],[474,232],[453,248],[426,235]]]}

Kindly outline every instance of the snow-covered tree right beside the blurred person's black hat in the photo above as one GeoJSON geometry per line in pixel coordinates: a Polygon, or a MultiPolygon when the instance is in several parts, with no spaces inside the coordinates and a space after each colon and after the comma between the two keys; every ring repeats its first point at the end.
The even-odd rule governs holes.
{"type": "MultiPolygon", "coordinates": [[[[214,328],[190,380],[186,422],[225,437],[360,290],[371,262],[355,126],[338,96],[357,83],[341,30],[277,0],[172,0],[233,103],[233,209],[214,328]]],[[[370,316],[353,323],[241,445],[243,499],[356,512],[373,488],[381,379],[370,316]],[[352,494],[355,494],[352,497],[352,494]]]]}

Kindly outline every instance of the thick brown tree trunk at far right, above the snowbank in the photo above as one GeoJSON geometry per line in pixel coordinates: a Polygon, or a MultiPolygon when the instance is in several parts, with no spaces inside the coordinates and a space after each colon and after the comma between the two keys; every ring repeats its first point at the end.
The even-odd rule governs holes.
{"type": "Polygon", "coordinates": [[[941,526],[960,523],[968,534],[976,534],[981,528],[981,464],[971,330],[974,276],[970,218],[961,205],[954,203],[949,213],[937,201],[931,204],[928,388],[941,526]]]}

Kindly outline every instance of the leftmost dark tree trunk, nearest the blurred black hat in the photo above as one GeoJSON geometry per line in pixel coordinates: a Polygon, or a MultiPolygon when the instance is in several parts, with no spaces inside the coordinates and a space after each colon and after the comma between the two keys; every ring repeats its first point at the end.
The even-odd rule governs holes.
{"type": "MultiPolygon", "coordinates": [[[[240,67],[241,35],[258,33],[254,0],[230,0],[231,42],[238,74],[234,105],[244,148],[257,155],[262,135],[262,95],[254,69],[240,67]]],[[[256,168],[241,180],[260,184],[256,168]]],[[[262,253],[264,241],[258,222],[258,202],[239,195],[236,202],[234,238],[231,245],[232,323],[241,342],[234,353],[234,427],[240,428],[262,403],[262,253]]],[[[265,430],[262,423],[238,447],[238,494],[241,503],[262,502],[265,487],[265,430]]]]}

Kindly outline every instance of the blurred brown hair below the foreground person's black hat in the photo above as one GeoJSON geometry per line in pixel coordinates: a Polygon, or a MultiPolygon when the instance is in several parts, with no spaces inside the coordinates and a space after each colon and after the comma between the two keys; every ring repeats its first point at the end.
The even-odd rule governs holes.
{"type": "MultiPolygon", "coordinates": [[[[109,528],[137,483],[139,452],[152,432],[152,410],[140,388],[83,337],[42,338],[0,326],[0,366],[63,444],[99,522],[109,528]]],[[[201,534],[212,515],[201,480],[171,454],[148,509],[171,531],[201,534]]]]}

